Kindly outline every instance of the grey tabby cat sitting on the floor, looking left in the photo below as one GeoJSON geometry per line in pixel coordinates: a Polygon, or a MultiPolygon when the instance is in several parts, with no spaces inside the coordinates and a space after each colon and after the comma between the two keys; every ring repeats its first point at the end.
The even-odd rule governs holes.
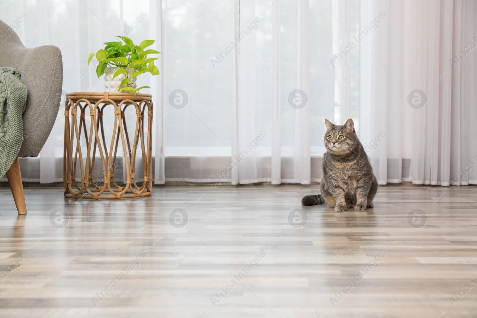
{"type": "Polygon", "coordinates": [[[348,119],[344,125],[334,125],[327,119],[325,122],[328,151],[323,156],[321,195],[303,197],[302,205],[324,204],[335,211],[346,211],[353,206],[355,210],[373,207],[378,182],[356,136],[353,120],[348,119]]]}

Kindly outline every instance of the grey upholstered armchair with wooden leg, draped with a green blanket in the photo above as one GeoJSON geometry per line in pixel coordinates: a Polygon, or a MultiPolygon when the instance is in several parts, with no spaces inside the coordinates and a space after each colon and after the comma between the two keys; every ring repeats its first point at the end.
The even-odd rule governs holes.
{"type": "MultiPolygon", "coordinates": [[[[38,156],[52,131],[60,106],[63,82],[61,51],[53,45],[27,49],[15,31],[0,21],[0,66],[18,69],[21,82],[28,89],[23,113],[24,139],[18,157],[38,156]]],[[[26,214],[18,158],[7,177],[18,213],[26,214]]]]}

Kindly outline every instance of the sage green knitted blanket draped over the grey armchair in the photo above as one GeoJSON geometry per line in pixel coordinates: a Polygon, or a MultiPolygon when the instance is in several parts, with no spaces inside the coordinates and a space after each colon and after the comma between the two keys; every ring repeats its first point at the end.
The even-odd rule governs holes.
{"type": "Polygon", "coordinates": [[[8,171],[23,142],[21,109],[27,100],[27,87],[20,72],[0,67],[0,178],[8,171]]]}

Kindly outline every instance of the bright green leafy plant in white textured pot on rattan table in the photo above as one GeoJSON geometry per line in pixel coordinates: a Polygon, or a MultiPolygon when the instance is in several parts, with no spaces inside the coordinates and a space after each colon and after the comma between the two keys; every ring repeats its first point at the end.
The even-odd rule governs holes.
{"type": "Polygon", "coordinates": [[[145,40],[135,45],[130,38],[118,36],[122,41],[105,42],[106,47],[98,50],[96,54],[88,56],[88,65],[96,56],[99,62],[96,67],[96,75],[100,78],[104,74],[105,92],[132,92],[134,96],[143,88],[136,88],[136,78],[145,72],[159,75],[157,66],[154,65],[156,57],[147,58],[148,54],[158,54],[156,50],[144,50],[152,45],[154,40],[145,40]]]}

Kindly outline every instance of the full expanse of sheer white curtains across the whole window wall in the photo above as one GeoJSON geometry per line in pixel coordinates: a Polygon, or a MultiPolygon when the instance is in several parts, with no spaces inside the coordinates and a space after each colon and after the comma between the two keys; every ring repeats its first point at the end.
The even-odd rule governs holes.
{"type": "MultiPolygon", "coordinates": [[[[156,184],[320,182],[324,119],[350,117],[380,184],[476,184],[476,11],[470,0],[0,2],[27,47],[60,47],[64,93],[103,91],[86,65],[103,42],[156,40],[161,75],[139,79],[154,96],[156,184]]],[[[63,125],[60,110],[40,157],[21,160],[25,181],[62,181],[63,125]]]]}

